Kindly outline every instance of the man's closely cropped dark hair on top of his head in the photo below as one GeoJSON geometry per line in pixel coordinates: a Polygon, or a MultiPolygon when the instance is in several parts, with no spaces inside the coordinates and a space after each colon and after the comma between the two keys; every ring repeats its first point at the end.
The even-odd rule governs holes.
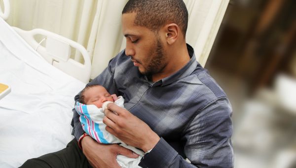
{"type": "Polygon", "coordinates": [[[182,30],[184,38],[188,25],[188,11],[183,0],[129,0],[122,10],[136,13],[135,24],[158,31],[161,26],[173,22],[182,30]]]}

